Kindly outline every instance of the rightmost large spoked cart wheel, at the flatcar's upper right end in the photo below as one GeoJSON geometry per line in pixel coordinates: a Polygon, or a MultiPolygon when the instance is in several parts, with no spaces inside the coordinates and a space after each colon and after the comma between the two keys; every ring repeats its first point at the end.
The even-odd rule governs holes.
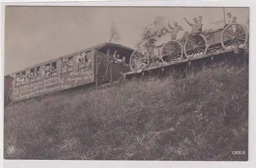
{"type": "Polygon", "coordinates": [[[243,48],[248,41],[246,28],[238,23],[232,23],[225,27],[221,35],[221,45],[224,49],[233,47],[243,48]]]}

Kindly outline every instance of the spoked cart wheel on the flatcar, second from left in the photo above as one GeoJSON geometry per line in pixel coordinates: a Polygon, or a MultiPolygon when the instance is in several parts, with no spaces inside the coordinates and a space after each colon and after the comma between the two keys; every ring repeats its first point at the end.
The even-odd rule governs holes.
{"type": "Polygon", "coordinates": [[[162,51],[162,60],[164,62],[171,62],[181,60],[183,55],[183,47],[179,41],[171,40],[166,43],[162,51]]]}

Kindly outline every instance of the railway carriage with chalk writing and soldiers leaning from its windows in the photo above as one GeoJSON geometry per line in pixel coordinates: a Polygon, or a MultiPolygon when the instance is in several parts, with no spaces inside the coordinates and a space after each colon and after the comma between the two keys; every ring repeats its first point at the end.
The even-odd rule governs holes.
{"type": "Polygon", "coordinates": [[[133,49],[119,44],[103,43],[5,76],[5,103],[17,102],[78,86],[100,86],[120,78],[120,71],[129,72],[123,63],[104,61],[106,53],[115,51],[129,64],[133,49]],[[108,64],[108,65],[106,65],[108,64]]]}

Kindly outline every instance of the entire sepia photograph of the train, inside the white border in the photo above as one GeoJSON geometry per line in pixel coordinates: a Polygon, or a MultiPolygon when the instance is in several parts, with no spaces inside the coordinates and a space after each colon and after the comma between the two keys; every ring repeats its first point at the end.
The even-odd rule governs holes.
{"type": "Polygon", "coordinates": [[[4,14],[4,159],[248,161],[248,7],[4,14]]]}

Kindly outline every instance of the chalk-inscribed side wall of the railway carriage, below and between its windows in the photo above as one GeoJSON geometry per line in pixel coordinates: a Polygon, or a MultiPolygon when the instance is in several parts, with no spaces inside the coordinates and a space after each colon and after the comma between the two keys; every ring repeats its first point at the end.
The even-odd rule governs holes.
{"type": "MultiPolygon", "coordinates": [[[[75,65],[77,64],[76,57],[73,55],[73,65],[75,65],[73,71],[61,73],[61,60],[59,60],[56,62],[56,76],[46,78],[46,74],[41,73],[41,78],[38,81],[30,82],[29,79],[26,79],[25,85],[12,88],[12,102],[94,82],[94,53],[94,50],[90,51],[91,61],[86,63],[87,67],[78,69],[78,66],[75,65]]],[[[40,68],[45,69],[45,67],[45,65],[42,65],[40,68]]],[[[27,74],[29,74],[29,71],[27,71],[27,74]]]]}

